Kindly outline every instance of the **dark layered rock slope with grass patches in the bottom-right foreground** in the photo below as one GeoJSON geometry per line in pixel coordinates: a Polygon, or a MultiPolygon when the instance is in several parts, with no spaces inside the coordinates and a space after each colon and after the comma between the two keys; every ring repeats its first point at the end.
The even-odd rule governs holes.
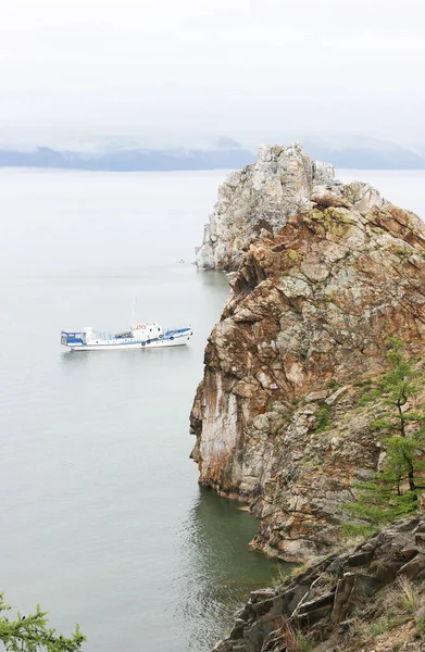
{"type": "Polygon", "coordinates": [[[214,652],[425,650],[425,516],[251,593],[214,652]]]}

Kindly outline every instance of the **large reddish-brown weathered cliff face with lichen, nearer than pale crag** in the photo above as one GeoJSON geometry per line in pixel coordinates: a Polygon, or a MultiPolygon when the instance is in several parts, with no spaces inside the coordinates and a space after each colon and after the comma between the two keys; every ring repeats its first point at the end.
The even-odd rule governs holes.
{"type": "Polygon", "coordinates": [[[249,501],[253,546],[288,561],[333,549],[379,462],[354,384],[386,371],[391,335],[425,348],[422,222],[362,184],[313,199],[245,254],[191,413],[200,481],[249,501]]]}

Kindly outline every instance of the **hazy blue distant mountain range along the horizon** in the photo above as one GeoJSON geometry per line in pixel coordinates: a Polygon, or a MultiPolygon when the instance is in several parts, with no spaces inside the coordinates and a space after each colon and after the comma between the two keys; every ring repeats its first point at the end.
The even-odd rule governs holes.
{"type": "MultiPolygon", "coordinates": [[[[286,142],[287,139],[283,142],[286,142]]],[[[300,139],[308,154],[329,161],[337,168],[425,170],[425,146],[414,149],[393,142],[361,137],[345,139],[300,139]]],[[[32,150],[0,149],[0,167],[54,167],[112,172],[234,170],[255,161],[255,153],[238,142],[222,137],[211,146],[172,149],[141,148],[137,143],[98,151],[55,150],[36,147],[32,150]]]]}

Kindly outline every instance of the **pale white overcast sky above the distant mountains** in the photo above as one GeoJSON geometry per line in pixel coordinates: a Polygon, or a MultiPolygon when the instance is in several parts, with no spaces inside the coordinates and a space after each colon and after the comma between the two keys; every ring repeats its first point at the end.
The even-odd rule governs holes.
{"type": "Polygon", "coordinates": [[[424,24],[424,0],[2,0],[0,141],[425,141],[424,24]]]}

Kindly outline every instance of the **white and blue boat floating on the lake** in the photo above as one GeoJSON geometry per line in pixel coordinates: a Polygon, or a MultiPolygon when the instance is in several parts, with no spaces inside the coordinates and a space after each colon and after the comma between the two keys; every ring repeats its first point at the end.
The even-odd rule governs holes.
{"type": "Polygon", "coordinates": [[[125,333],[98,333],[86,326],[82,331],[62,330],[61,344],[72,351],[164,349],[187,344],[192,335],[190,326],[164,330],[160,324],[137,324],[125,333]]]}

